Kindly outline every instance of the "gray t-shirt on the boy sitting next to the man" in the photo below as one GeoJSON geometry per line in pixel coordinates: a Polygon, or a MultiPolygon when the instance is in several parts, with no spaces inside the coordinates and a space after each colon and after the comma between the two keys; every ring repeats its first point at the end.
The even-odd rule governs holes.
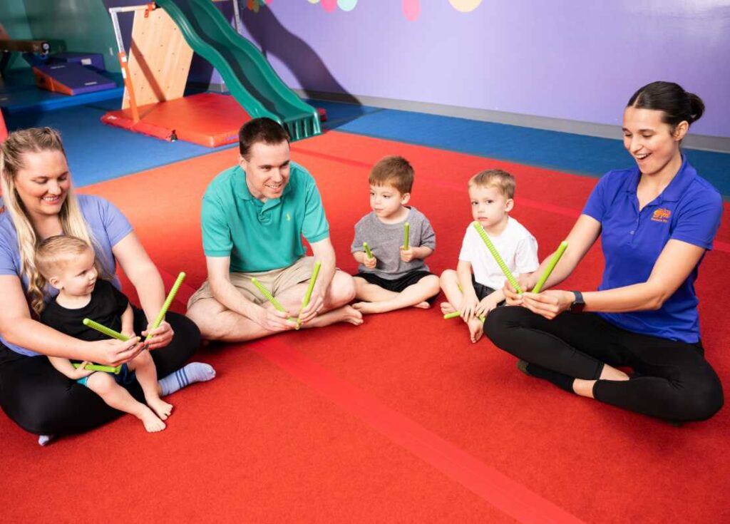
{"type": "Polygon", "coordinates": [[[361,273],[374,273],[378,277],[395,280],[404,277],[411,271],[429,271],[429,266],[420,258],[406,263],[401,261],[400,247],[403,245],[404,224],[409,223],[408,243],[411,247],[430,247],[436,249],[436,234],[431,228],[429,219],[422,212],[409,208],[403,222],[384,224],[374,212],[369,212],[355,224],[355,239],[350,248],[352,253],[364,251],[363,242],[367,242],[372,255],[377,258],[377,266],[367,269],[364,264],[358,266],[361,273]]]}

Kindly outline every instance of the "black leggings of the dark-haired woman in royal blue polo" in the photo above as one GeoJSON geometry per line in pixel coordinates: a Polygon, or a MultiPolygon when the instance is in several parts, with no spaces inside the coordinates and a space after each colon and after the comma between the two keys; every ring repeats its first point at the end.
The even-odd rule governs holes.
{"type": "Polygon", "coordinates": [[[631,367],[630,380],[597,380],[596,400],[673,421],[706,420],[723,389],[701,344],[641,335],[599,315],[564,312],[553,320],[523,307],[494,309],[485,333],[502,350],[567,377],[594,380],[604,363],[631,367]]]}

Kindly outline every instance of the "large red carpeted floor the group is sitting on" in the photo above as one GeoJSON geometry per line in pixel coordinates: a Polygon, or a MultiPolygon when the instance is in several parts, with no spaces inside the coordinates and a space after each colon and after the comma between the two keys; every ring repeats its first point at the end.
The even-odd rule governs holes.
{"type": "MultiPolygon", "coordinates": [[[[383,155],[415,166],[411,203],[437,232],[434,272],[456,263],[470,220],[466,180],[478,170],[515,174],[513,215],[537,237],[541,257],[596,182],[337,132],[292,150],[318,181],[346,271],[355,269],[353,225],[369,210],[367,174],[383,155]]],[[[188,273],[184,300],[205,273],[201,194],[234,161],[227,150],[84,190],[126,213],[168,282],[188,273]]],[[[723,225],[697,288],[707,358],[724,383],[729,256],[723,225]]],[[[594,287],[601,269],[594,248],[565,287],[594,287]]],[[[435,309],[212,344],[197,358],[218,377],[171,396],[174,415],[161,434],[125,416],[41,448],[0,417],[2,520],[730,520],[727,408],[676,428],[569,395],[520,374],[488,340],[470,344],[464,326],[435,309]]]]}

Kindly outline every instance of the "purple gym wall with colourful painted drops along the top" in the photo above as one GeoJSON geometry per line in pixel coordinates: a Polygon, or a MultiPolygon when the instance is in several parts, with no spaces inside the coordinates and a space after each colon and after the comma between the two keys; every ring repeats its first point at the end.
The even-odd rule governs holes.
{"type": "Polygon", "coordinates": [[[620,125],[634,90],[672,80],[707,104],[695,133],[730,137],[726,0],[421,0],[413,21],[414,0],[317,1],[242,9],[292,88],[620,125]]]}

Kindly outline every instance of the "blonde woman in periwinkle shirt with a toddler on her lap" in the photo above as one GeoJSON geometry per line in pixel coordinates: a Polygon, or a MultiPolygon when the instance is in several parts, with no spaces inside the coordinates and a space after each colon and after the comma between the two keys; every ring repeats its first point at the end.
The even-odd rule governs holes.
{"type": "MultiPolygon", "coordinates": [[[[97,196],[74,195],[56,131],[31,128],[9,134],[0,145],[0,180],[4,200],[0,212],[0,407],[15,423],[42,435],[39,442],[43,444],[49,435],[85,431],[121,414],[88,388],[57,373],[48,358],[39,355],[117,366],[142,350],[134,339],[74,339],[42,325],[31,314],[32,306],[44,300],[35,250],[49,236],[69,234],[88,242],[109,276],[120,263],[142,305],[134,310],[134,330],[142,336],[153,335],[148,347],[158,376],[177,370],[159,381],[163,395],[215,376],[207,364],[180,369],[200,342],[200,332],[191,320],[169,313],[166,322],[148,331],[165,298],[160,274],[115,206],[97,196]]],[[[115,277],[112,282],[119,287],[115,277]]],[[[130,387],[135,397],[142,398],[137,382],[130,387]]]]}

